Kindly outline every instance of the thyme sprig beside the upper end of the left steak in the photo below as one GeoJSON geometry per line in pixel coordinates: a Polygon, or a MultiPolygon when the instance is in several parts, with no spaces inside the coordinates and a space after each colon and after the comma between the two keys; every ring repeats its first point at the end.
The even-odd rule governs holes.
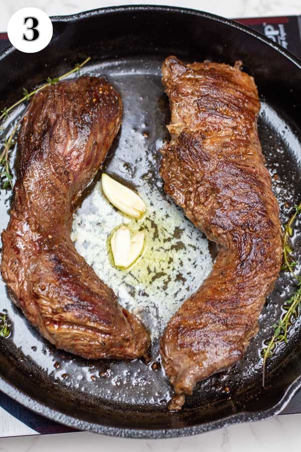
{"type": "MultiPolygon", "coordinates": [[[[79,72],[79,70],[90,60],[90,57],[86,58],[82,63],[76,64],[73,69],[66,72],[63,75],[60,75],[59,77],[50,78],[48,77],[46,79],[46,83],[42,84],[38,88],[34,89],[33,91],[29,92],[26,88],[23,88],[23,97],[15,102],[13,105],[4,108],[0,111],[0,121],[6,120],[9,118],[9,112],[12,111],[15,107],[22,104],[23,102],[29,100],[34,94],[36,94],[39,91],[42,91],[47,86],[54,85],[58,83],[59,81],[63,80],[63,78],[68,77],[68,75],[73,74],[74,72],[79,72]]],[[[0,180],[1,180],[1,186],[2,188],[13,188],[13,177],[12,172],[10,169],[10,161],[9,161],[9,154],[12,148],[15,144],[15,135],[18,130],[18,127],[20,125],[20,121],[18,121],[17,125],[14,127],[13,132],[9,137],[6,137],[4,144],[0,147],[0,180]]],[[[0,130],[3,130],[4,128],[0,128],[0,130]]]]}

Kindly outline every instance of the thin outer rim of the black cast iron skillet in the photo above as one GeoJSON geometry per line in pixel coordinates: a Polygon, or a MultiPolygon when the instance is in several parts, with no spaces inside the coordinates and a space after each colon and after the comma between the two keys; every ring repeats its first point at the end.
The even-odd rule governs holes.
{"type": "MultiPolygon", "coordinates": [[[[115,13],[123,12],[177,12],[182,14],[189,14],[205,19],[209,19],[215,22],[220,22],[224,25],[237,29],[243,33],[253,36],[254,38],[262,41],[269,47],[282,54],[285,58],[291,61],[298,69],[301,70],[301,59],[293,55],[288,50],[284,49],[282,46],[276,44],[274,41],[268,39],[261,33],[246,27],[238,22],[232,21],[230,19],[222,18],[220,16],[181,7],[171,7],[171,6],[157,6],[157,5],[124,5],[116,7],[98,8],[85,12],[80,12],[72,15],[65,16],[51,16],[52,22],[76,22],[80,19],[89,18],[92,16],[99,15],[110,15],[115,13]]],[[[11,53],[15,52],[16,49],[12,45],[0,52],[0,64],[1,61],[11,53]]],[[[63,425],[78,429],[93,431],[96,433],[102,433],[109,436],[126,437],[126,438],[174,438],[181,436],[190,436],[200,433],[205,433],[210,430],[215,430],[224,426],[231,424],[237,424],[249,421],[262,420],[275,414],[280,413],[286,405],[289,403],[294,394],[301,388],[301,375],[297,377],[285,390],[282,398],[271,408],[263,411],[241,411],[236,414],[232,414],[215,421],[208,421],[202,424],[197,424],[194,426],[181,427],[181,428],[156,428],[156,429],[145,429],[145,428],[121,428],[121,427],[109,427],[106,425],[101,425],[99,423],[83,421],[76,417],[62,413],[61,411],[52,409],[42,402],[37,401],[35,398],[28,396],[25,392],[18,389],[15,385],[10,383],[4,377],[0,375],[0,390],[7,394],[9,397],[19,402],[24,407],[40,414],[48,419],[59,422],[63,425]]]]}

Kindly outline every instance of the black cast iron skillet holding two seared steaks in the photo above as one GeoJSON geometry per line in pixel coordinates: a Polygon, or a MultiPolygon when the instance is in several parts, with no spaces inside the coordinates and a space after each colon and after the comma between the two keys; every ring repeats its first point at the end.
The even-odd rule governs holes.
{"type": "MultiPolygon", "coordinates": [[[[168,138],[169,119],[160,79],[164,58],[175,54],[185,61],[230,64],[240,59],[244,70],[255,77],[261,95],[259,135],[285,223],[301,197],[298,59],[246,27],[192,10],[120,7],[52,21],[53,39],[43,51],[24,54],[10,47],[0,55],[0,108],[16,101],[22,87],[34,87],[91,56],[91,65],[83,73],[106,74],[125,106],[122,131],[106,169],[124,177],[120,162],[128,162],[134,168],[132,181],[137,182],[135,170],[146,170],[148,165],[147,171],[160,185],[157,149],[168,138]],[[145,130],[148,138],[143,138],[142,146],[145,130]]],[[[2,192],[1,196],[3,229],[9,195],[2,192]]],[[[297,252],[299,232],[297,228],[293,238],[297,252]]],[[[287,345],[280,346],[268,362],[265,388],[261,384],[262,342],[272,334],[281,303],[293,291],[286,274],[281,274],[268,297],[260,331],[244,359],[199,383],[178,413],[167,410],[172,391],[161,369],[153,370],[140,361],[87,362],[55,350],[8,300],[3,283],[0,290],[0,308],[7,309],[13,322],[11,337],[0,341],[0,389],[35,412],[74,428],[127,437],[191,435],[279,413],[301,385],[299,320],[289,331],[287,345]]],[[[153,359],[158,359],[158,344],[153,359]]]]}

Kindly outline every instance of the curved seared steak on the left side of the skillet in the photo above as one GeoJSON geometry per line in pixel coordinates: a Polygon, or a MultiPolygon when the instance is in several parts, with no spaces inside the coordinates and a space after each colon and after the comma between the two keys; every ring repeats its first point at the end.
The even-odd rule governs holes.
{"type": "Polygon", "coordinates": [[[52,344],[85,358],[146,356],[149,337],[70,239],[74,203],[103,162],[122,117],[104,78],[37,93],[18,137],[1,271],[15,303],[52,344]]]}

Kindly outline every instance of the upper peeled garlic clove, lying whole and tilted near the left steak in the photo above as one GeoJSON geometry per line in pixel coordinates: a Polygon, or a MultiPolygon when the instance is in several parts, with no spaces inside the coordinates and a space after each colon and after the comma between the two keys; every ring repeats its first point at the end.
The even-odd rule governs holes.
{"type": "Polygon", "coordinates": [[[101,175],[101,184],[105,196],[121,212],[134,218],[139,218],[145,212],[146,206],[144,202],[134,191],[105,173],[101,175]]]}

